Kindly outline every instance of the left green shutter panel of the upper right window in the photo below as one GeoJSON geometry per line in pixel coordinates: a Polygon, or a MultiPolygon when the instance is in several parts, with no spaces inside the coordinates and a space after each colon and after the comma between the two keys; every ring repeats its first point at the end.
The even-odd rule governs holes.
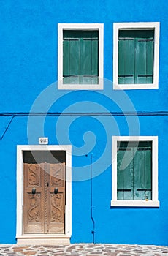
{"type": "Polygon", "coordinates": [[[127,31],[119,31],[118,83],[134,83],[134,37],[127,31]]]}

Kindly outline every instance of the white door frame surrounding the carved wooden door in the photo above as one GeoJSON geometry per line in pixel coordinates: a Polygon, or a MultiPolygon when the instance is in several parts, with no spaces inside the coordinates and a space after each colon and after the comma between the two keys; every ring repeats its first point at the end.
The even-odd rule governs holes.
{"type": "MultiPolygon", "coordinates": [[[[23,151],[66,151],[66,233],[72,234],[72,146],[70,145],[18,145],[17,146],[17,224],[16,238],[24,238],[23,234],[23,151]]],[[[60,234],[60,236],[62,236],[60,234]]],[[[54,238],[53,234],[29,234],[31,238],[54,238]]],[[[58,235],[56,235],[58,237],[58,235]]]]}

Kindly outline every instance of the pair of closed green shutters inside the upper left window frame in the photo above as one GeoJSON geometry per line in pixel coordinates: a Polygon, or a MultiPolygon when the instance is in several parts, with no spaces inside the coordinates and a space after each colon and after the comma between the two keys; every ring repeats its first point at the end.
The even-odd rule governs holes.
{"type": "Polygon", "coordinates": [[[99,31],[64,31],[64,83],[98,83],[99,31]]]}

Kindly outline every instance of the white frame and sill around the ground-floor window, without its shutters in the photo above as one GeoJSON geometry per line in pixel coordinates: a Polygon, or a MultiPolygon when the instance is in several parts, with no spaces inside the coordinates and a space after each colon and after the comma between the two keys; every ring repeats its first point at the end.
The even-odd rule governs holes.
{"type": "Polygon", "coordinates": [[[112,200],[111,206],[159,207],[158,200],[158,137],[112,136],[112,200]],[[152,141],[152,200],[117,200],[117,143],[118,141],[152,141]]]}

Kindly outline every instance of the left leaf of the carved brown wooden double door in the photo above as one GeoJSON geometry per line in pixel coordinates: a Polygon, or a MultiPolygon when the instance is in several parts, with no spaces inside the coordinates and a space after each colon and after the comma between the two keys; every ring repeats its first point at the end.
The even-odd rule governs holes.
{"type": "Polygon", "coordinates": [[[24,233],[45,232],[45,189],[42,165],[24,164],[24,233]]]}

